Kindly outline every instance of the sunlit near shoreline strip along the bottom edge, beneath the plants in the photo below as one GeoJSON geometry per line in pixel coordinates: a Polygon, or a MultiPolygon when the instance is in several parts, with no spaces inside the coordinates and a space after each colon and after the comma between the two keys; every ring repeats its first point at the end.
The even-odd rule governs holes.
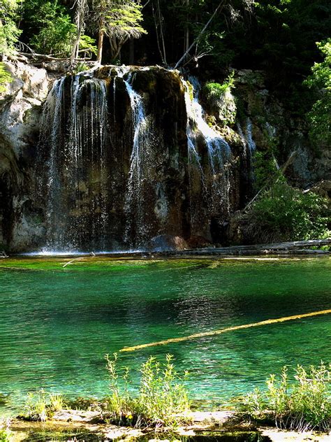
{"type": "Polygon", "coordinates": [[[270,425],[258,425],[247,422],[234,411],[195,411],[191,413],[189,425],[176,429],[136,429],[98,422],[101,416],[93,411],[63,410],[54,414],[46,422],[29,422],[13,419],[10,431],[13,441],[24,440],[76,440],[76,441],[107,441],[107,440],[186,440],[186,441],[284,441],[295,440],[317,442],[330,440],[331,433],[293,432],[280,430],[270,425]],[[44,439],[38,439],[43,437],[44,439]],[[48,439],[47,439],[48,438],[48,439]]]}

